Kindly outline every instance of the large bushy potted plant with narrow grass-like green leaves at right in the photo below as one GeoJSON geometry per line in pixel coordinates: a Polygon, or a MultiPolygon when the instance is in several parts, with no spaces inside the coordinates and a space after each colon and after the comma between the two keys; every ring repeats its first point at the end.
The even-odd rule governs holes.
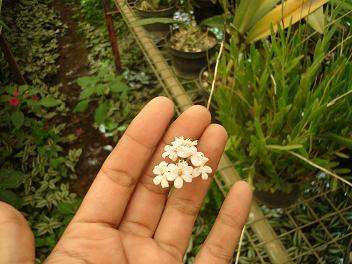
{"type": "Polygon", "coordinates": [[[221,59],[215,101],[227,150],[269,206],[294,202],[319,171],[352,186],[337,162],[352,146],[352,32],[339,27],[277,26],[258,47],[233,36],[221,59]]]}

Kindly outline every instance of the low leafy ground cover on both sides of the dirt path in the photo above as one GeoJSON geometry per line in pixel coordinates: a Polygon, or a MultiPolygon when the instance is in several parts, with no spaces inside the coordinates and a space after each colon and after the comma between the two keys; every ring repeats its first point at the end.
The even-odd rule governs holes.
{"type": "MultiPolygon", "coordinates": [[[[137,49],[134,53],[123,53],[122,63],[126,67],[123,74],[116,76],[113,73],[104,15],[96,1],[65,3],[74,10],[89,50],[88,75],[78,79],[70,77],[74,74],[71,70],[60,73],[59,59],[63,50],[68,50],[64,56],[72,56],[69,43],[62,43],[61,38],[72,29],[67,28],[54,10],[57,8],[55,2],[19,1],[7,4],[5,7],[9,10],[3,10],[8,14],[4,16],[9,28],[6,35],[29,85],[12,83],[7,64],[4,58],[0,58],[1,82],[5,85],[0,94],[0,199],[20,209],[29,220],[36,238],[36,261],[41,263],[74,215],[81,201],[80,196],[87,188],[86,185],[83,189],[78,188],[79,193],[76,194],[76,182],[87,181],[85,178],[77,179],[77,167],[82,163],[79,159],[90,148],[77,143],[82,142],[80,138],[84,131],[72,127],[72,124],[77,123],[77,118],[82,121],[92,116],[93,122],[94,117],[96,121],[93,130],[109,130],[102,136],[118,139],[134,113],[160,89],[137,49]],[[36,8],[33,9],[33,6],[36,8]],[[21,41],[19,37],[23,37],[21,41]],[[76,94],[79,94],[80,87],[85,88],[95,80],[97,89],[89,96],[85,92],[84,99],[87,101],[83,102],[83,106],[91,102],[90,108],[96,108],[96,114],[94,111],[88,112],[88,115],[76,114],[84,110],[82,101],[79,98],[76,101],[74,94],[63,90],[62,75],[71,78],[69,84],[79,85],[76,94]],[[149,89],[143,89],[146,87],[149,89]],[[114,92],[117,94],[114,95],[114,92]],[[132,107],[129,100],[134,102],[132,107]],[[106,106],[109,107],[108,118],[104,116],[106,106]]],[[[120,43],[120,49],[125,51],[133,39],[126,37],[127,27],[121,18],[118,19],[117,28],[119,37],[124,40],[120,43]]],[[[104,144],[106,140],[100,143],[99,148],[108,147],[104,144]]],[[[80,173],[81,169],[78,169],[80,173]]],[[[85,171],[83,173],[86,174],[85,171]]],[[[92,174],[94,177],[94,172],[92,174]]]]}

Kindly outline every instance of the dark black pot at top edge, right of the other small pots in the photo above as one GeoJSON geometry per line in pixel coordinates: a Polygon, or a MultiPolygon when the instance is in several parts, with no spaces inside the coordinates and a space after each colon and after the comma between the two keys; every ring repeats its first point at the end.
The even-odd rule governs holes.
{"type": "Polygon", "coordinates": [[[213,4],[211,0],[197,0],[193,6],[194,18],[197,24],[204,19],[224,13],[219,2],[213,4]]]}

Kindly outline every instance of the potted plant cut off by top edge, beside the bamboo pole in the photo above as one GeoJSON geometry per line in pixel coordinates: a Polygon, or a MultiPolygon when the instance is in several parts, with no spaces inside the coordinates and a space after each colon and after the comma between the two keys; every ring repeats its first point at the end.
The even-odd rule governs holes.
{"type": "MultiPolygon", "coordinates": [[[[137,15],[142,19],[152,18],[172,18],[176,11],[176,2],[174,0],[138,0],[135,4],[137,15]]],[[[144,25],[148,31],[169,30],[169,25],[155,22],[144,25]]]]}

